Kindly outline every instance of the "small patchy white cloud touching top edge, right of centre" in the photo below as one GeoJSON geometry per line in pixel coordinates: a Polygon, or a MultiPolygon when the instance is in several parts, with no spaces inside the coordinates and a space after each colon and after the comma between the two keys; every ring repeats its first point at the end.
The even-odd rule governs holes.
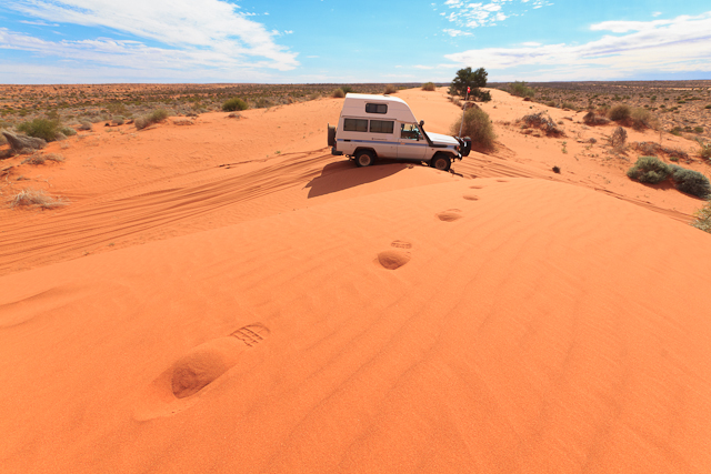
{"type": "MultiPolygon", "coordinates": [[[[553,4],[548,0],[518,0],[517,3],[530,6],[533,9],[553,4]]],[[[512,4],[513,0],[489,0],[478,3],[447,0],[444,6],[452,11],[440,14],[463,28],[492,27],[509,17],[522,14],[521,12],[508,11],[512,4]]]]}

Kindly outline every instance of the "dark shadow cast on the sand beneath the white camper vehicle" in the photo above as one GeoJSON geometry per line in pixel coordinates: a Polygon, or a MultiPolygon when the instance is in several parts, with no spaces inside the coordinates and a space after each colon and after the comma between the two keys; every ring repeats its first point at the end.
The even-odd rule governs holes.
{"type": "Polygon", "coordinates": [[[368,168],[356,168],[351,161],[338,161],[323,167],[321,175],[309,181],[306,188],[310,188],[309,199],[318,198],[382,180],[404,170],[408,165],[411,163],[388,162],[375,163],[368,168]]]}

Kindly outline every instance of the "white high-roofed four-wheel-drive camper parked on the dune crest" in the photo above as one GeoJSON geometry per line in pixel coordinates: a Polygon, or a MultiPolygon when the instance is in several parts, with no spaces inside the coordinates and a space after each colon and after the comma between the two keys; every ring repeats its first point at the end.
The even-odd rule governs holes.
{"type": "Polygon", "coordinates": [[[469,155],[469,138],[425,132],[423,125],[402,99],[349,93],[338,125],[328,128],[328,142],[331,153],[353,159],[357,167],[389,158],[423,161],[447,171],[453,160],[469,155]]]}

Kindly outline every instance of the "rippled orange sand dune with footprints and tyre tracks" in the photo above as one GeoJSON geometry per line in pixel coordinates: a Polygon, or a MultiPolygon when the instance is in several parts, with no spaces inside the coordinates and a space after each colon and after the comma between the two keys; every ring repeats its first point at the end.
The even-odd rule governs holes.
{"type": "Polygon", "coordinates": [[[711,471],[705,201],[625,174],[661,142],[709,175],[699,144],[491,95],[450,172],[332,155],[332,98],[0,161],[63,204],[0,209],[0,471],[711,471]]]}

